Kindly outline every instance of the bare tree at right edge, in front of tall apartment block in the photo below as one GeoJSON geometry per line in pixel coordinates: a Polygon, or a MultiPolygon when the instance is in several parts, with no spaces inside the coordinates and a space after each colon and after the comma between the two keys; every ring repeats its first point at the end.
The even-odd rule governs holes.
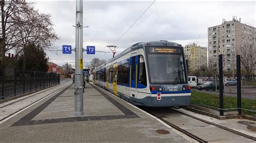
{"type": "Polygon", "coordinates": [[[256,70],[256,49],[253,45],[245,44],[240,46],[242,67],[246,70],[247,77],[256,70]]]}

